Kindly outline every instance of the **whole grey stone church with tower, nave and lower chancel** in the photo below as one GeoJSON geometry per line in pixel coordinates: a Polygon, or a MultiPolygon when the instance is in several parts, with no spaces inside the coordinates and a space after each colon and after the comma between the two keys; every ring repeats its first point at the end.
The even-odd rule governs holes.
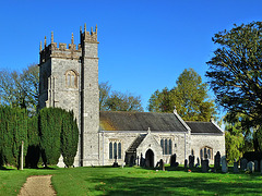
{"type": "MultiPolygon", "coordinates": [[[[225,155],[224,132],[213,122],[184,122],[177,113],[99,111],[97,26],[80,30],[80,44],[40,44],[39,107],[73,110],[80,130],[75,167],[134,164],[147,167],[176,155],[214,162],[225,155]]],[[[63,167],[62,158],[59,166],[63,167]]]]}

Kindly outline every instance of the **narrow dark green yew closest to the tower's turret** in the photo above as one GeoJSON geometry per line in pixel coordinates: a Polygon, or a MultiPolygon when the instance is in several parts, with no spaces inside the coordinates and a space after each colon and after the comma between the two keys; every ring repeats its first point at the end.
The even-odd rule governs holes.
{"type": "Polygon", "coordinates": [[[78,151],[79,128],[73,112],[63,110],[62,131],[61,131],[61,154],[64,164],[69,168],[73,166],[74,157],[78,151]]]}

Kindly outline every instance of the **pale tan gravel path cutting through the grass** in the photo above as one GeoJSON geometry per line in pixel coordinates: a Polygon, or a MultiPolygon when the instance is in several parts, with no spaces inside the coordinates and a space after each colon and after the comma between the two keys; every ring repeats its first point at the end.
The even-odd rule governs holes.
{"type": "Polygon", "coordinates": [[[53,196],[57,195],[51,185],[51,175],[33,175],[27,177],[19,196],[53,196]]]}

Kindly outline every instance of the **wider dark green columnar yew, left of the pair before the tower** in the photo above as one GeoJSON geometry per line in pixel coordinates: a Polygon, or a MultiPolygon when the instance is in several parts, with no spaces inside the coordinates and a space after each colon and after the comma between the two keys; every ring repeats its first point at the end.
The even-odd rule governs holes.
{"type": "Polygon", "coordinates": [[[59,108],[44,108],[39,112],[41,158],[47,164],[57,164],[60,157],[62,114],[59,108]]]}

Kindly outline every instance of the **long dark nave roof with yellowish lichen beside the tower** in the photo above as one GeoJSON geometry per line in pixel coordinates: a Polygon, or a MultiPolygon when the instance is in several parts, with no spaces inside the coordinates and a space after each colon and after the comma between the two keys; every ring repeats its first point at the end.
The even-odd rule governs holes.
{"type": "Polygon", "coordinates": [[[174,113],[100,111],[100,131],[187,132],[174,113]]]}

